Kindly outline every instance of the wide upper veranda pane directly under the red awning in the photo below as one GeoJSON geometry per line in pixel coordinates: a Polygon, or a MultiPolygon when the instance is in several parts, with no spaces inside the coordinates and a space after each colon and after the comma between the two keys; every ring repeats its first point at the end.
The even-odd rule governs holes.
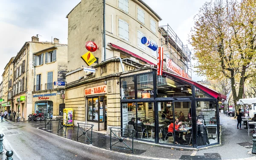
{"type": "Polygon", "coordinates": [[[192,96],[191,85],[171,76],[157,76],[157,97],[192,96]]]}

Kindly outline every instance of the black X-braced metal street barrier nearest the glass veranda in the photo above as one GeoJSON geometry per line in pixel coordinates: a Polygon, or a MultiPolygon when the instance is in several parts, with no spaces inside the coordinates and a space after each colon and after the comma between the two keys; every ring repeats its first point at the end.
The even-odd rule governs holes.
{"type": "Polygon", "coordinates": [[[134,149],[134,129],[126,129],[126,128],[114,128],[114,127],[109,127],[110,129],[110,149],[112,149],[113,145],[115,145],[116,143],[124,143],[128,148],[119,148],[119,147],[113,147],[113,148],[118,148],[118,149],[124,149],[124,150],[129,150],[131,151],[131,153],[133,153],[134,149]],[[112,130],[113,129],[118,129],[119,131],[116,131],[116,130],[112,130]],[[132,131],[132,132],[128,132],[128,131],[125,131],[125,130],[128,130],[128,131],[132,131]],[[124,137],[122,136],[123,138],[117,136],[114,132],[119,132],[119,134],[122,135],[122,133],[127,133],[127,135],[124,137]],[[116,138],[118,138],[118,141],[114,144],[112,144],[112,133],[116,136],[116,138]],[[132,137],[132,147],[129,147],[125,142],[124,142],[124,139],[125,138],[128,138],[129,136],[132,137]]]}

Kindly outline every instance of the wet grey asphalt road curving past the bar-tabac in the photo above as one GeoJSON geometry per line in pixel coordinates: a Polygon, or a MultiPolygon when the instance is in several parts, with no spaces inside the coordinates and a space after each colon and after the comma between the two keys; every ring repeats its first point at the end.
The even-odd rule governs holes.
{"type": "Polygon", "coordinates": [[[15,152],[15,160],[144,160],[44,133],[26,123],[3,121],[0,126],[0,133],[6,134],[4,147],[15,152]]]}

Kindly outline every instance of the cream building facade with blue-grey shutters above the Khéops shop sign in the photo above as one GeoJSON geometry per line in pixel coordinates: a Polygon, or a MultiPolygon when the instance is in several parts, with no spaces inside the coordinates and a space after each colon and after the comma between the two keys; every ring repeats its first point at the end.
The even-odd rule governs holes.
{"type": "Polygon", "coordinates": [[[65,82],[67,73],[67,44],[58,44],[35,52],[34,55],[34,90],[32,92],[32,112],[42,110],[45,116],[53,115],[53,119],[63,115],[64,99],[61,90],[64,85],[54,85],[55,81],[65,82]]]}

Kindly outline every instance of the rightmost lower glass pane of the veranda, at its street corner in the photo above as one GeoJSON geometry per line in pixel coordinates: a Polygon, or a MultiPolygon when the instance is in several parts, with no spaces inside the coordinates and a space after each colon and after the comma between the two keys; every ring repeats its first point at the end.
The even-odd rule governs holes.
{"type": "Polygon", "coordinates": [[[197,101],[197,145],[218,143],[216,102],[197,101]]]}

